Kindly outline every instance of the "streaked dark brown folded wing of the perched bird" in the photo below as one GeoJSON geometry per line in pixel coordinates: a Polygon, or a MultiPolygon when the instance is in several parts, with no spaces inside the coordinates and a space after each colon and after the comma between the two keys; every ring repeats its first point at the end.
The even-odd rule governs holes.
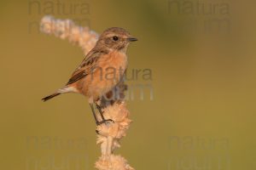
{"type": "Polygon", "coordinates": [[[81,78],[86,77],[93,71],[97,66],[97,61],[104,54],[102,51],[91,50],[89,54],[86,55],[79,67],[73,71],[71,78],[68,80],[66,85],[72,84],[73,82],[79,81],[81,78]]]}

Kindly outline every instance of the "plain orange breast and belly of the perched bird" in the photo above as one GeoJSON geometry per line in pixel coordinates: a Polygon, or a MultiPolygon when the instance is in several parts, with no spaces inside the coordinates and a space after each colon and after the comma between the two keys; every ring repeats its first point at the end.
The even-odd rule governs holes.
{"type": "Polygon", "coordinates": [[[127,56],[113,51],[102,55],[94,71],[77,84],[81,94],[98,99],[108,93],[124,76],[127,67],[127,56]]]}

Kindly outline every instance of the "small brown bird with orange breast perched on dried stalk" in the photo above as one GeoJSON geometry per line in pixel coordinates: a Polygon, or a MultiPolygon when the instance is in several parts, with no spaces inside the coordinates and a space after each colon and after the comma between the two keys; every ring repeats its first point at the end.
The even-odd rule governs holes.
{"type": "Polygon", "coordinates": [[[130,33],[123,28],[112,27],[103,31],[96,46],[85,56],[67,84],[58,89],[55,94],[42,100],[47,101],[66,93],[83,94],[89,98],[90,108],[97,125],[112,121],[104,118],[101,107],[96,104],[96,101],[101,99],[102,95],[107,94],[125,74],[126,49],[130,42],[135,41],[137,38],[131,37],[130,33]],[[101,122],[96,119],[94,104],[102,116],[101,122]]]}

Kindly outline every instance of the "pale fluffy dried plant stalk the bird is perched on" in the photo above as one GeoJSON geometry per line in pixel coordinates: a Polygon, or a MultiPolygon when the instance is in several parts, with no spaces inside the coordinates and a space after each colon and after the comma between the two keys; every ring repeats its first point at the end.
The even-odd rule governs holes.
{"type": "MultiPolygon", "coordinates": [[[[98,34],[90,31],[89,27],[76,26],[72,20],[58,20],[52,16],[44,16],[41,20],[41,31],[46,34],[55,35],[61,39],[78,44],[86,55],[96,44],[98,34]]],[[[98,132],[96,144],[101,144],[102,156],[96,161],[98,170],[133,170],[125,158],[113,155],[113,150],[120,147],[119,140],[125,137],[130,127],[130,112],[125,105],[125,82],[113,88],[111,95],[118,94],[118,98],[111,101],[99,100],[106,119],[112,119],[113,123],[102,124],[96,127],[98,132]]],[[[99,117],[100,118],[100,117],[99,117]]]]}

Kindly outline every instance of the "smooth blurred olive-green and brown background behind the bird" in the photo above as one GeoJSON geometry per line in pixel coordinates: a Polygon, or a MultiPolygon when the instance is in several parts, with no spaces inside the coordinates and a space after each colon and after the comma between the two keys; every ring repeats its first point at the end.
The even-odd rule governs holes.
{"type": "Polygon", "coordinates": [[[116,153],[132,167],[255,169],[255,2],[187,2],[2,0],[0,169],[94,169],[100,156],[87,99],[40,100],[84,58],[32,25],[45,14],[99,33],[124,27],[139,39],[128,50],[128,74],[150,69],[152,80],[129,83],[151,84],[154,99],[127,101],[134,122],[116,153]]]}

